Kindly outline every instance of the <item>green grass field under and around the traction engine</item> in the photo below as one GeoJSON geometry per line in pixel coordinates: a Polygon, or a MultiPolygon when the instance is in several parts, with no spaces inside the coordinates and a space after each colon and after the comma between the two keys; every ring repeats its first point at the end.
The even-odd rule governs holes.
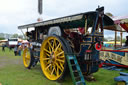
{"type": "MultiPolygon", "coordinates": [[[[87,85],[116,85],[114,77],[119,76],[119,71],[99,69],[93,75],[96,81],[86,81],[87,85]]],[[[24,68],[21,56],[14,56],[13,51],[9,51],[7,48],[5,52],[2,52],[1,47],[0,83],[2,85],[73,85],[70,74],[66,75],[62,83],[50,81],[43,76],[40,64],[28,70],[24,68]]]]}

